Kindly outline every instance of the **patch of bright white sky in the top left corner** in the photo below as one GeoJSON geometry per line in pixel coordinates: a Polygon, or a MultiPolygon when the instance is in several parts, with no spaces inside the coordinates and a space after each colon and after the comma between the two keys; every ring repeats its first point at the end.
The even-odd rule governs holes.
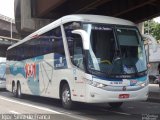
{"type": "Polygon", "coordinates": [[[0,0],[0,14],[14,18],[14,0],[0,0]]]}

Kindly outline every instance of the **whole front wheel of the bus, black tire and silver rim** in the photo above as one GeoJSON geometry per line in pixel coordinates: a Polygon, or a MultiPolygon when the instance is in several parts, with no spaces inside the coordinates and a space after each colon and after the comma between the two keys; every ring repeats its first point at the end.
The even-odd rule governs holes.
{"type": "Polygon", "coordinates": [[[62,87],[61,100],[65,109],[71,109],[73,107],[71,92],[68,84],[64,84],[62,87]]]}

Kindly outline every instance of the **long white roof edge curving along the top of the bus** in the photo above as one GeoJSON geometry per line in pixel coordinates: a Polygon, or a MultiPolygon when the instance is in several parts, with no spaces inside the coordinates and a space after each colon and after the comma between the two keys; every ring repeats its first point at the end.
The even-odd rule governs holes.
{"type": "Polygon", "coordinates": [[[77,14],[77,15],[67,15],[64,16],[45,27],[35,31],[34,33],[28,35],[23,40],[17,42],[16,44],[10,46],[8,49],[11,49],[17,45],[20,45],[28,40],[30,40],[33,37],[39,36],[53,28],[56,28],[60,26],[61,24],[65,24],[72,21],[82,21],[82,22],[89,22],[89,23],[105,23],[105,24],[117,24],[117,25],[128,25],[128,26],[135,26],[135,24],[131,21],[115,18],[115,17],[109,17],[109,16],[102,16],[102,15],[87,15],[87,14],[77,14]]]}

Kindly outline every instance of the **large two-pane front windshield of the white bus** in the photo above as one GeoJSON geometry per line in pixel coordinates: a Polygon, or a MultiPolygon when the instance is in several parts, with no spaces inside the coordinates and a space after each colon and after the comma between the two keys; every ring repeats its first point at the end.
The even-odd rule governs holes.
{"type": "Polygon", "coordinates": [[[87,65],[107,75],[129,75],[147,70],[144,46],[134,27],[83,24],[90,36],[87,65]]]}

